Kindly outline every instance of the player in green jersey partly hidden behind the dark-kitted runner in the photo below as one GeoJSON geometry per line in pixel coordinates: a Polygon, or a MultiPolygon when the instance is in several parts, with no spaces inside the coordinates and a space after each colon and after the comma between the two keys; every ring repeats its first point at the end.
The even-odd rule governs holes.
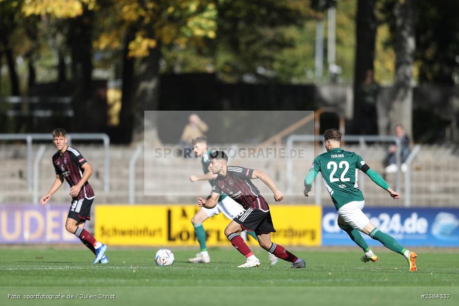
{"type": "MultiPolygon", "coordinates": [[[[192,140],[193,151],[197,157],[201,158],[202,164],[202,175],[191,175],[190,181],[209,181],[209,183],[213,184],[215,177],[217,174],[212,174],[210,171],[209,166],[211,162],[211,153],[212,151],[208,150],[207,148],[207,138],[206,137],[197,137],[192,140]]],[[[223,192],[220,194],[218,198],[217,205],[214,208],[201,208],[194,216],[191,218],[191,223],[194,227],[194,233],[196,235],[196,239],[199,242],[200,252],[196,253],[196,257],[190,258],[188,261],[191,263],[209,263],[210,257],[209,252],[207,251],[206,245],[206,231],[202,226],[202,222],[206,221],[207,219],[218,215],[219,213],[223,213],[226,218],[233,220],[240,212],[244,209],[242,206],[233,200],[231,197],[226,196],[223,192]]],[[[253,239],[257,240],[257,235],[254,232],[246,232],[253,239]]],[[[271,261],[271,265],[275,265],[278,261],[278,258],[274,256],[274,254],[269,253],[269,260],[271,261]]]]}

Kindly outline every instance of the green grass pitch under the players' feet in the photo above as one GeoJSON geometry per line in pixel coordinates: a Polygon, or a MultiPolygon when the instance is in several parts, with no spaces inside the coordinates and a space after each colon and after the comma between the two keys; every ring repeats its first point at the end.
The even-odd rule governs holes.
{"type": "Polygon", "coordinates": [[[359,248],[295,248],[307,262],[291,269],[279,260],[271,266],[266,251],[253,248],[261,266],[238,269],[244,257],[233,248],[211,248],[210,264],[190,264],[194,249],[171,248],[175,262],[159,267],[156,249],[109,248],[110,263],[93,265],[82,247],[0,248],[0,304],[330,304],[401,305],[455,304],[459,298],[456,251],[418,251],[418,271],[385,249],[374,249],[376,263],[362,263],[359,248]],[[74,299],[28,299],[24,295],[70,294],[74,299]],[[13,299],[8,294],[21,298],[13,299]],[[96,298],[88,299],[95,295],[96,298]],[[115,299],[98,294],[115,295],[115,299]],[[450,294],[448,299],[421,299],[421,294],[450,294]],[[84,297],[84,298],[82,298],[84,297]],[[242,301],[241,301],[242,299],[242,301]],[[313,301],[311,303],[311,301],[313,301]]]}

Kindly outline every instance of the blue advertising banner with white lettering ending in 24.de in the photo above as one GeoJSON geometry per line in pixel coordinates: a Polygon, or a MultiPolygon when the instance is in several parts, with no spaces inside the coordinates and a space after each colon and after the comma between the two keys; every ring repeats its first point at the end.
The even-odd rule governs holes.
{"type": "MultiPolygon", "coordinates": [[[[406,246],[459,247],[459,209],[364,208],[370,222],[406,246]]],[[[338,227],[335,208],[322,210],[322,245],[355,245],[338,227]]],[[[362,234],[369,245],[380,242],[362,234]]]]}

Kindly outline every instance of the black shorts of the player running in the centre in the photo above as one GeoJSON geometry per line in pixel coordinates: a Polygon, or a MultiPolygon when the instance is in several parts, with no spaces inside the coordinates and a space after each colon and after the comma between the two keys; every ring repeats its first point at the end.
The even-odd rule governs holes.
{"type": "Polygon", "coordinates": [[[241,224],[243,230],[255,232],[256,235],[275,233],[271,212],[248,208],[233,219],[241,224]]]}

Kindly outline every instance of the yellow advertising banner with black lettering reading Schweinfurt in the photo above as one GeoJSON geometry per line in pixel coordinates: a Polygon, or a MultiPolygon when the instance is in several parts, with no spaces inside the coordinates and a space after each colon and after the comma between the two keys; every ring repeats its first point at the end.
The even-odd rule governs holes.
{"type": "MultiPolygon", "coordinates": [[[[276,229],[273,241],[282,245],[320,245],[320,206],[270,208],[276,229]]],[[[95,237],[108,245],[195,246],[191,217],[199,209],[196,205],[97,205],[95,237]]],[[[208,246],[230,245],[224,235],[230,221],[221,213],[205,221],[208,246]]],[[[257,242],[248,237],[248,243],[257,242]]]]}

